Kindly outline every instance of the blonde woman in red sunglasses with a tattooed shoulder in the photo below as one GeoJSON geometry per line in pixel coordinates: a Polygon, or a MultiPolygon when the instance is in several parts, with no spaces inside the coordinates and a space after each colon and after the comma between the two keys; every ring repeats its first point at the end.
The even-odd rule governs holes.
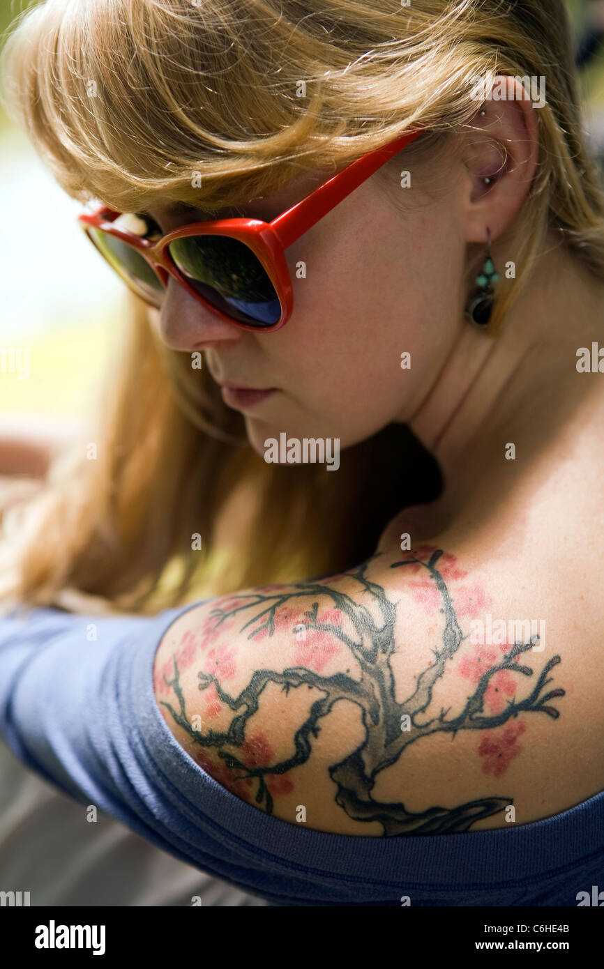
{"type": "Polygon", "coordinates": [[[14,752],[276,904],[582,904],[604,199],[563,4],[51,0],[4,71],[150,307],[6,517],[14,752]]]}

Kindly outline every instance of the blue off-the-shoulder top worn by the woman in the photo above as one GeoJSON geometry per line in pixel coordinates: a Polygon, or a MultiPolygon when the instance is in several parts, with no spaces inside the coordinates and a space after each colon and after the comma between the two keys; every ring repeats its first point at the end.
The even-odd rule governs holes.
{"type": "Polygon", "coordinates": [[[303,828],[235,797],[175,741],[153,693],[159,642],[192,608],[0,618],[0,733],[16,756],[277,905],[576,906],[578,892],[604,889],[604,792],[533,824],[402,837],[303,828]]]}

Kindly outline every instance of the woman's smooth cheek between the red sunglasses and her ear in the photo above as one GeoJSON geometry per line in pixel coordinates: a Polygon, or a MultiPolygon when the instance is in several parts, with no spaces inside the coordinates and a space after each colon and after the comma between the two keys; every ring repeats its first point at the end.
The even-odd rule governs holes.
{"type": "Polygon", "coordinates": [[[461,327],[454,212],[435,205],[403,218],[371,202],[369,217],[343,210],[288,251],[295,308],[269,356],[285,391],[279,429],[291,436],[339,437],[346,447],[407,420],[461,327]]]}

